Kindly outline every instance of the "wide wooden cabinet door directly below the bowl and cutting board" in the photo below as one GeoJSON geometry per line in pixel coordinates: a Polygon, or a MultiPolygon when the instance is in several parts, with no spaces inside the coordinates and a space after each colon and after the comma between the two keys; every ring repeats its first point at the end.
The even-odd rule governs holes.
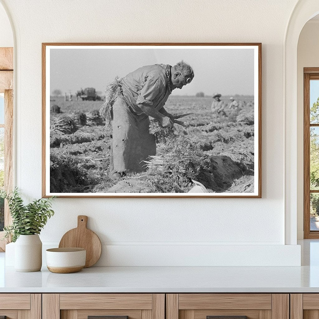
{"type": "Polygon", "coordinates": [[[42,319],[165,319],[159,293],[43,294],[42,307],[42,319]]]}

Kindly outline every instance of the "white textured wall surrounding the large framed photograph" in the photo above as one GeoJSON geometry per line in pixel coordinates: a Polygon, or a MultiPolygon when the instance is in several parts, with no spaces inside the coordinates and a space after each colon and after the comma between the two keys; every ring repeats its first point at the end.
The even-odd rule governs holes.
{"type": "Polygon", "coordinates": [[[17,38],[16,184],[26,199],[41,197],[41,42],[263,44],[262,199],[62,198],[54,204],[56,215],[43,230],[42,241],[56,244],[75,226],[76,216],[85,214],[89,227],[110,246],[143,250],[158,244],[285,243],[283,41],[294,0],[226,0],[218,6],[208,0],[2,3],[17,38]]]}

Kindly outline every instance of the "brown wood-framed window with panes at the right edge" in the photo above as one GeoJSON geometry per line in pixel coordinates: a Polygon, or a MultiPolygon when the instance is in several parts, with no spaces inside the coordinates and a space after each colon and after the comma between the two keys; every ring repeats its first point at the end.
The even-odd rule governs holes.
{"type": "Polygon", "coordinates": [[[319,238],[319,68],[304,68],[304,238],[319,238]]]}

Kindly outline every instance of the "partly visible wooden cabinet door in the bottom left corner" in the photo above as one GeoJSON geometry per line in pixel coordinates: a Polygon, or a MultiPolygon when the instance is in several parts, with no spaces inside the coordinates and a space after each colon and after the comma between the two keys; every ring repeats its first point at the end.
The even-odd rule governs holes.
{"type": "Polygon", "coordinates": [[[0,318],[41,319],[41,294],[0,293],[0,318]]]}

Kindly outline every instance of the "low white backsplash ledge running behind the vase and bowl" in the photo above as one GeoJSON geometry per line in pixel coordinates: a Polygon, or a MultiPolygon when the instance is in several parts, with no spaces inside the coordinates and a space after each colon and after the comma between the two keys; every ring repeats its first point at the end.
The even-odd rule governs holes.
{"type": "MultiPolygon", "coordinates": [[[[45,250],[58,243],[43,243],[45,250]]],[[[14,266],[14,243],[6,245],[14,266]]],[[[103,245],[96,266],[300,266],[300,245],[103,245]]]]}

